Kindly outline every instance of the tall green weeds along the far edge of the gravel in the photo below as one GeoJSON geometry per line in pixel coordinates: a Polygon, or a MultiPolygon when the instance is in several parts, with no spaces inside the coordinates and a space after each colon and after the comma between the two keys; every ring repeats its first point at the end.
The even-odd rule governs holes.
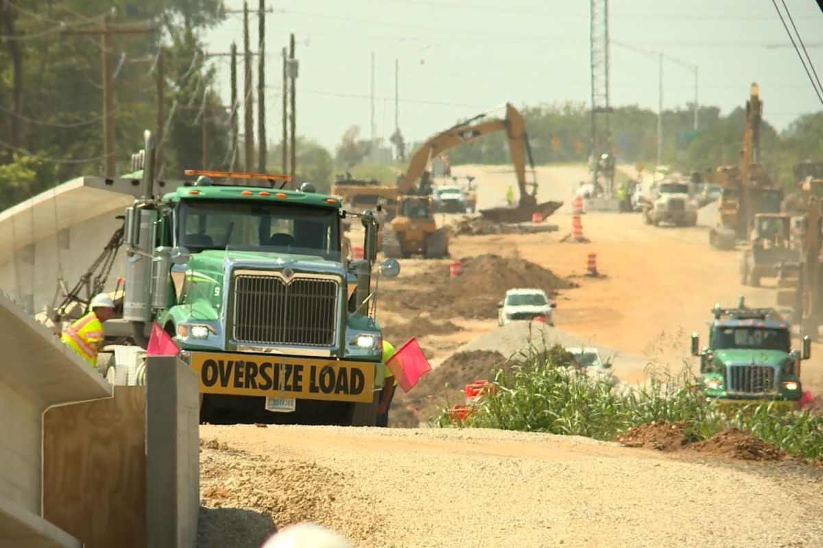
{"type": "MultiPolygon", "coordinates": [[[[510,360],[511,371],[498,371],[495,393],[479,398],[462,426],[613,440],[630,426],[686,421],[694,440],[737,426],[789,454],[823,459],[823,416],[785,411],[776,403],[723,412],[705,400],[686,370],[677,376],[658,372],[646,385],[620,389],[575,370],[560,346],[538,352],[530,344],[510,360]]],[[[434,423],[453,426],[448,410],[434,423]]]]}

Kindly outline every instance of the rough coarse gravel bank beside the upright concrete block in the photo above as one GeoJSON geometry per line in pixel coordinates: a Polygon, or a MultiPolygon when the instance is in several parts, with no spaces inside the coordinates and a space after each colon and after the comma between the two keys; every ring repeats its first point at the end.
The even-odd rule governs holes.
{"type": "Polygon", "coordinates": [[[344,474],[317,463],[272,459],[205,440],[198,546],[258,548],[277,529],[304,521],[331,527],[355,542],[368,538],[379,527],[374,520],[351,523],[340,518],[342,506],[367,506],[350,485],[344,474]]]}

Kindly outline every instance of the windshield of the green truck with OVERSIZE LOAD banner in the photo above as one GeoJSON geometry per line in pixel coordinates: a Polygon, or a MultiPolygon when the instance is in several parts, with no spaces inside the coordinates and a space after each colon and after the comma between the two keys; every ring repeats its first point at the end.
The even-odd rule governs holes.
{"type": "Polygon", "coordinates": [[[323,256],[339,260],[337,210],[279,203],[182,200],[178,245],[323,256]]]}

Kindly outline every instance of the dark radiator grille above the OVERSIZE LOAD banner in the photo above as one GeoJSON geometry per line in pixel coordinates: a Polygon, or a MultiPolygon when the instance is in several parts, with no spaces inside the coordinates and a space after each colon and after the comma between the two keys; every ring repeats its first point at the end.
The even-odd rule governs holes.
{"type": "Polygon", "coordinates": [[[238,343],[333,346],[337,281],[239,274],[234,340],[238,343]]]}

